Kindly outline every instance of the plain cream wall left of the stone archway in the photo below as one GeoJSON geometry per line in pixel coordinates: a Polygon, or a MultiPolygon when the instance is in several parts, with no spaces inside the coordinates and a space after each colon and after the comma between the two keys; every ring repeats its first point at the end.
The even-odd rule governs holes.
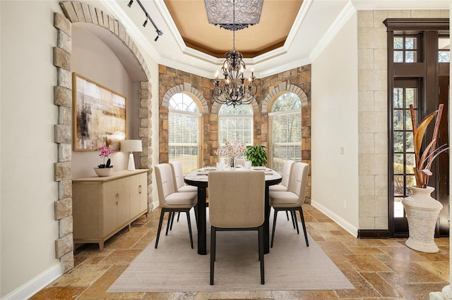
{"type": "MultiPolygon", "coordinates": [[[[61,273],[55,258],[52,48],[57,1],[0,1],[1,7],[1,285],[4,298],[42,273],[61,273]]],[[[18,299],[18,298],[16,298],[18,299]]]]}

